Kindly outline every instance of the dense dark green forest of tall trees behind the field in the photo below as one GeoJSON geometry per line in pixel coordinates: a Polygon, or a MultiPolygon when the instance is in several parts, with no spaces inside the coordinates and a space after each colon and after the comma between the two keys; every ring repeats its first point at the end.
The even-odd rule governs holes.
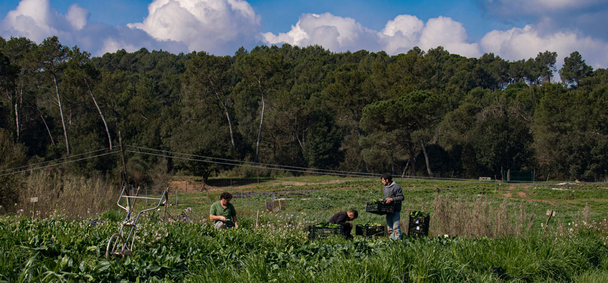
{"type": "MultiPolygon", "coordinates": [[[[115,149],[120,133],[122,144],[167,155],[399,176],[534,170],[538,178],[604,181],[608,72],[578,52],[559,70],[557,60],[551,51],[508,61],[441,46],[390,56],[289,44],[224,57],[145,48],[92,57],[57,37],[0,38],[0,169],[115,149]]],[[[160,155],[126,159],[142,184],[154,170],[205,178],[237,170],[160,155]]],[[[120,155],[104,155],[66,168],[118,178],[120,165],[120,155]]]]}

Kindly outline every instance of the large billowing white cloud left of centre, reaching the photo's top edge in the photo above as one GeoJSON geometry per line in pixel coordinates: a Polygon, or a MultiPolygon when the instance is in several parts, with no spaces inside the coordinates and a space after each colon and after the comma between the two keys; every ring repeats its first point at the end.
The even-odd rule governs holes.
{"type": "Polygon", "coordinates": [[[154,0],[143,23],[127,26],[189,51],[224,55],[258,40],[260,16],[243,0],[154,0]]]}

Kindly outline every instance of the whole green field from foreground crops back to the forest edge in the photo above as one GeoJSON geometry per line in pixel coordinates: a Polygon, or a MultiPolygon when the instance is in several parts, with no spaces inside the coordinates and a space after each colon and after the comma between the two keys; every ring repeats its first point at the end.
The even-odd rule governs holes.
{"type": "MultiPolygon", "coordinates": [[[[426,211],[428,239],[308,239],[308,225],[348,209],[359,211],[354,224],[384,224],[364,212],[382,197],[377,179],[235,178],[233,186],[213,186],[226,183],[216,179],[210,190],[179,192],[178,205],[170,191],[168,214],[192,208],[193,223],[164,223],[162,210],[147,214],[125,258],[104,257],[124,211],[87,219],[4,215],[0,281],[608,282],[606,186],[396,181],[406,197],[402,232],[409,211],[426,211]],[[209,204],[224,191],[234,195],[238,229],[207,223],[209,204]],[[280,210],[266,211],[273,197],[283,199],[280,210]],[[556,215],[545,226],[549,209],[556,215]]],[[[143,207],[150,206],[138,201],[136,211],[143,207]]]]}

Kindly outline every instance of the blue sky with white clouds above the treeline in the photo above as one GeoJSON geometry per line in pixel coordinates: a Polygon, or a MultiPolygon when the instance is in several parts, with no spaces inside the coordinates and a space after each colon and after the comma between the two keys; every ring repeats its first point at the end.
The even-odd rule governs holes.
{"type": "Polygon", "coordinates": [[[57,35],[93,55],[141,47],[231,55],[261,44],[319,44],[333,52],[443,46],[507,60],[579,51],[608,66],[608,0],[2,0],[0,36],[57,35]]]}

